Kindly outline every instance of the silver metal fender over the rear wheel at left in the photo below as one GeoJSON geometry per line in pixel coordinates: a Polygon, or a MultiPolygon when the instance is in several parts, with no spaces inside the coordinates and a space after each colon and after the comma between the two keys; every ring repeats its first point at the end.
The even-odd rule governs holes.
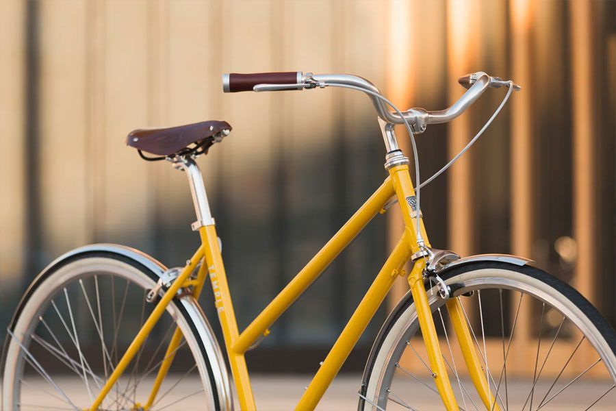
{"type": "MultiPolygon", "coordinates": [[[[42,281],[44,278],[44,273],[63,260],[82,254],[97,252],[114,253],[130,258],[131,260],[145,266],[152,273],[157,275],[157,277],[160,277],[167,270],[167,267],[161,262],[146,253],[139,251],[138,249],[117,244],[92,244],[73,249],[59,258],[56,258],[53,262],[51,262],[51,264],[45,267],[36,279],[34,279],[34,282],[31,284],[30,288],[35,288],[36,283],[42,281]]],[[[26,295],[27,293],[28,292],[26,292],[26,295]]],[[[181,301],[183,308],[185,308],[186,312],[188,312],[188,316],[190,317],[189,319],[192,321],[194,329],[201,337],[203,345],[205,345],[205,351],[207,353],[207,358],[205,358],[205,361],[209,364],[209,369],[212,373],[212,384],[216,386],[218,403],[223,410],[233,410],[233,395],[231,394],[231,386],[229,384],[229,372],[227,371],[227,366],[224,363],[224,357],[222,355],[220,345],[218,345],[218,341],[214,336],[214,332],[212,331],[207,318],[205,318],[205,314],[203,313],[203,310],[201,310],[201,306],[198,305],[197,301],[195,301],[191,295],[181,297],[179,300],[181,301]]]]}

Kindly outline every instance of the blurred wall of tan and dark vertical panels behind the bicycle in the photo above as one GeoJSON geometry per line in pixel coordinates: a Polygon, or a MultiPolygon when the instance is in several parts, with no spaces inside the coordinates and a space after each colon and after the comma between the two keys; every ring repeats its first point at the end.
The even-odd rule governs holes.
{"type": "MultiPolygon", "coordinates": [[[[29,282],[69,249],[118,242],[183,265],[198,246],[185,177],[124,140],[210,119],[233,126],[199,162],[240,329],[253,320],[385,178],[364,95],[222,93],[222,73],[261,71],[354,73],[400,108],[429,110],[462,95],[465,73],[521,84],[476,146],[422,190],[431,242],[532,258],[615,324],[615,1],[2,0],[1,338],[29,282]]],[[[424,179],[504,92],[418,136],[424,179]]],[[[398,139],[410,154],[402,129],[398,139]]],[[[248,353],[249,368],[315,371],[400,221],[395,210],[376,216],[248,353]]],[[[343,371],[363,369],[404,292],[401,280],[343,371]]]]}

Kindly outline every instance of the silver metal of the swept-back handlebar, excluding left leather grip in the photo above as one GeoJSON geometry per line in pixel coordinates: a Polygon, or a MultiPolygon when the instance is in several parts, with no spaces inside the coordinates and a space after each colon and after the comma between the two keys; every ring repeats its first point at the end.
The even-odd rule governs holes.
{"type": "MultiPolygon", "coordinates": [[[[350,74],[312,74],[312,73],[297,73],[298,82],[294,84],[255,84],[254,91],[278,91],[278,90],[298,90],[311,88],[324,88],[328,85],[344,85],[351,86],[357,90],[363,90],[372,100],[372,104],[376,109],[378,116],[389,124],[402,124],[404,121],[396,112],[392,112],[387,108],[387,103],[376,97],[381,95],[374,84],[367,79],[357,75],[350,74]]],[[[223,82],[229,82],[229,75],[223,77],[223,82]]],[[[402,116],[413,127],[413,132],[424,132],[428,124],[447,123],[452,121],[457,116],[462,114],[467,108],[472,105],[488,87],[498,88],[500,86],[509,86],[511,82],[504,82],[499,77],[491,77],[483,71],[466,75],[459,79],[460,84],[468,90],[446,110],[428,111],[423,108],[411,108],[402,112],[402,116]]],[[[223,86],[224,90],[228,90],[229,86],[223,86]]],[[[514,90],[519,90],[519,86],[513,84],[514,90]]]]}

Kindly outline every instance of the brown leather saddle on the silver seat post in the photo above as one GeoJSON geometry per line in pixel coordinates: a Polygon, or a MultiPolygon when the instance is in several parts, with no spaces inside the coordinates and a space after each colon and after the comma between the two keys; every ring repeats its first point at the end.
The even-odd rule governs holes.
{"type": "MultiPolygon", "coordinates": [[[[126,144],[135,147],[140,152],[162,155],[181,155],[190,153],[207,153],[207,149],[227,136],[231,125],[226,121],[201,121],[188,125],[168,128],[136,129],[126,138],[126,144]]],[[[155,160],[159,158],[146,158],[155,160]]]]}

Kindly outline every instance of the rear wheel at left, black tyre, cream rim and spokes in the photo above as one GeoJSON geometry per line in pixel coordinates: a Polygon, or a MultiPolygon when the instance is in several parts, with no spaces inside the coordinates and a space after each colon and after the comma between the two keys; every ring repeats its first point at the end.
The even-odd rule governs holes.
{"type": "MultiPolygon", "coordinates": [[[[78,256],[53,267],[29,290],[8,329],[3,410],[90,408],[155,304],[155,273],[111,253],[78,256]]],[[[175,356],[149,410],[217,410],[205,346],[182,304],[172,301],[101,404],[138,410],[164,358],[175,356]],[[166,353],[176,327],[183,338],[166,353]]]]}

